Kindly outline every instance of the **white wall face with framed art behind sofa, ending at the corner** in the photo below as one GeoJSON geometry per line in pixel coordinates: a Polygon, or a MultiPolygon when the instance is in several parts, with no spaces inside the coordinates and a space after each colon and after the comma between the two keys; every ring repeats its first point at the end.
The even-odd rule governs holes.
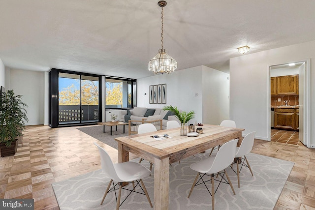
{"type": "Polygon", "coordinates": [[[165,105],[177,106],[186,112],[194,110],[195,119],[190,122],[202,122],[202,66],[137,79],[137,107],[163,108],[165,105]],[[149,86],[159,84],[166,84],[166,104],[150,104],[149,86]]]}

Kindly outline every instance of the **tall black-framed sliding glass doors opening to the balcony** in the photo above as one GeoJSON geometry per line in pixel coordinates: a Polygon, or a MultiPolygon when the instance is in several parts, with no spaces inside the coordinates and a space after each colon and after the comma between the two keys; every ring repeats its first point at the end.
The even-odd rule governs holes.
{"type": "Polygon", "coordinates": [[[52,69],[50,125],[87,124],[100,118],[100,76],[52,69]]]}

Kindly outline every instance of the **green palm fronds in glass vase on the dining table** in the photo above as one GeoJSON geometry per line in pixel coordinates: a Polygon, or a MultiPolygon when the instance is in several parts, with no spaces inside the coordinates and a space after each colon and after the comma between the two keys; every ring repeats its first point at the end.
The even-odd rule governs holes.
{"type": "Polygon", "coordinates": [[[186,136],[187,130],[186,130],[186,123],[189,122],[189,120],[193,119],[195,117],[195,112],[185,112],[185,111],[179,111],[178,108],[175,106],[165,106],[163,110],[168,110],[174,113],[174,116],[180,120],[181,122],[181,136],[186,136]]]}

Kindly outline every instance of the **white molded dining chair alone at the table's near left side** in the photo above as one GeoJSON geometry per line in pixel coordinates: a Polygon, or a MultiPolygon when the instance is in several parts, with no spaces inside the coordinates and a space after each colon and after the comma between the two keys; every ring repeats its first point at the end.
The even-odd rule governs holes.
{"type": "MultiPolygon", "coordinates": [[[[119,207],[126,201],[128,196],[132,192],[137,192],[135,191],[135,187],[138,185],[140,186],[140,182],[141,182],[142,187],[140,186],[140,188],[142,189],[143,193],[142,192],[137,192],[137,193],[145,194],[147,196],[147,199],[149,201],[151,208],[153,208],[147,189],[142,181],[143,178],[150,176],[151,171],[149,171],[149,169],[147,169],[143,165],[139,163],[135,163],[135,162],[128,161],[128,162],[113,164],[108,153],[96,143],[94,144],[99,150],[102,170],[106,174],[106,176],[111,179],[108,183],[108,186],[106,188],[105,194],[103,196],[103,199],[100,205],[103,204],[107,193],[110,191],[116,191],[115,187],[119,184],[119,193],[118,193],[118,197],[116,197],[116,201],[117,201],[116,210],[119,210],[119,207]],[[114,181],[117,183],[114,184],[114,181]],[[137,182],[136,185],[134,185],[134,181],[137,182]],[[125,198],[125,200],[122,203],[120,203],[122,189],[125,189],[123,188],[123,182],[132,182],[133,188],[132,190],[126,189],[130,192],[125,198]],[[113,187],[109,189],[111,183],[113,183],[113,187]]],[[[116,192],[115,192],[115,195],[116,195],[116,192]]]]}

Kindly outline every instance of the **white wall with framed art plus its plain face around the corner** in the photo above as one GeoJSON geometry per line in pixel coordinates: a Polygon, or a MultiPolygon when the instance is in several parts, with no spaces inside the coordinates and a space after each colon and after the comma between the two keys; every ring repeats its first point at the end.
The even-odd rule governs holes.
{"type": "Polygon", "coordinates": [[[177,106],[195,111],[194,121],[220,124],[229,118],[228,74],[206,66],[196,66],[137,80],[137,106],[163,108],[177,106]],[[149,103],[149,86],[166,84],[166,104],[149,103]],[[146,95],[144,94],[146,93],[146,95]],[[197,93],[197,96],[196,96],[197,93]]]}

